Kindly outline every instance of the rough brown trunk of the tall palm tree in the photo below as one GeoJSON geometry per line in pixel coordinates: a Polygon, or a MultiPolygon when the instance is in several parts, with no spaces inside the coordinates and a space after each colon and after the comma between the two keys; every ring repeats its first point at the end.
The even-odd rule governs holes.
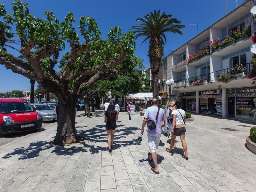
{"type": "Polygon", "coordinates": [[[157,36],[152,37],[149,41],[149,62],[153,76],[153,98],[158,100],[159,97],[159,84],[158,84],[158,72],[161,64],[161,58],[163,56],[163,45],[161,39],[157,36]]]}

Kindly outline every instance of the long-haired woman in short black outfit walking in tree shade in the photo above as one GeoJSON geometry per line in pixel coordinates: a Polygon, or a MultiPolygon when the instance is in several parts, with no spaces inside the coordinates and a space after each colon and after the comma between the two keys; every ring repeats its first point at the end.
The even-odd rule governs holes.
{"type": "Polygon", "coordinates": [[[105,123],[108,131],[108,153],[112,152],[114,133],[116,130],[117,112],[114,104],[109,104],[105,115],[105,123]]]}

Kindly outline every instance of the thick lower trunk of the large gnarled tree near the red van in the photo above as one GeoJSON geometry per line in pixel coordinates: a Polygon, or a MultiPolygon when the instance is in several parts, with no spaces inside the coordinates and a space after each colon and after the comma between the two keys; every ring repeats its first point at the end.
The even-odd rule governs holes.
{"type": "Polygon", "coordinates": [[[58,127],[55,139],[53,140],[53,144],[65,146],[76,143],[75,107],[76,100],[67,100],[65,104],[59,102],[58,127]]]}

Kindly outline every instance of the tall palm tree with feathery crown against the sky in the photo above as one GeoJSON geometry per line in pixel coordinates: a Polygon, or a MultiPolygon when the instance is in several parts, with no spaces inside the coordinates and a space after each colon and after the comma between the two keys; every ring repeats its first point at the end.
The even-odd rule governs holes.
{"type": "Polygon", "coordinates": [[[165,12],[160,14],[160,10],[150,12],[144,16],[145,19],[138,18],[136,21],[142,22],[140,25],[132,26],[135,39],[139,36],[146,36],[141,44],[149,40],[149,62],[153,76],[153,98],[158,99],[159,85],[158,85],[158,72],[160,68],[161,58],[163,56],[164,43],[166,43],[165,32],[178,33],[183,35],[180,28],[184,28],[181,25],[181,21],[172,17],[172,15],[166,15],[165,12]]]}

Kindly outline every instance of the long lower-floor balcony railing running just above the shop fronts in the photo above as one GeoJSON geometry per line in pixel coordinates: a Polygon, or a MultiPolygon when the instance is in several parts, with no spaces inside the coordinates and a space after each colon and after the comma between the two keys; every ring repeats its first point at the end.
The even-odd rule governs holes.
{"type": "MultiPolygon", "coordinates": [[[[233,78],[235,79],[237,77],[244,77],[245,75],[249,74],[250,70],[252,69],[252,64],[247,63],[245,68],[246,68],[246,71],[244,73],[233,74],[233,78]]],[[[222,69],[219,71],[214,71],[212,73],[207,73],[207,74],[203,74],[200,76],[191,77],[184,81],[175,82],[173,84],[173,88],[187,87],[187,86],[198,86],[198,85],[203,85],[203,84],[220,82],[218,80],[218,77],[219,77],[219,74],[222,74],[222,73],[231,74],[231,68],[226,68],[226,69],[222,69]]]]}

